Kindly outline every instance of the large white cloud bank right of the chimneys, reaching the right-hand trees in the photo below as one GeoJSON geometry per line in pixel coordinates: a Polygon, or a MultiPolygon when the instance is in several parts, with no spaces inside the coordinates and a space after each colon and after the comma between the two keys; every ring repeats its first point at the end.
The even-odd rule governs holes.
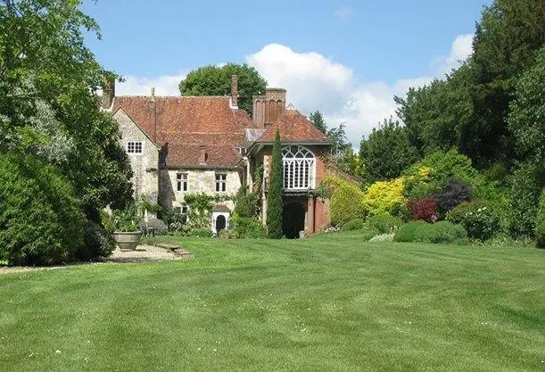
{"type": "Polygon", "coordinates": [[[349,67],[322,54],[298,53],[285,45],[265,45],[247,56],[246,62],[268,80],[269,87],[285,87],[287,100],[300,112],[319,110],[330,126],[345,122],[349,141],[359,147],[362,135],[384,119],[395,117],[393,95],[402,96],[409,87],[422,87],[458,67],[471,54],[472,37],[456,37],[449,56],[436,58],[435,69],[428,76],[398,79],[392,85],[382,81],[356,85],[349,67]]]}

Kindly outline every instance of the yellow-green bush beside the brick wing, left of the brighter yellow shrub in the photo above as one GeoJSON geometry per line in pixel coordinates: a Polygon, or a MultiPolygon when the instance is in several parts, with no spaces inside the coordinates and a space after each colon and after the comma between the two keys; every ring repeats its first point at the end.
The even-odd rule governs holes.
{"type": "Polygon", "coordinates": [[[367,214],[363,192],[358,186],[333,177],[325,177],[324,185],[332,190],[329,212],[332,225],[344,225],[351,219],[361,219],[367,214]]]}

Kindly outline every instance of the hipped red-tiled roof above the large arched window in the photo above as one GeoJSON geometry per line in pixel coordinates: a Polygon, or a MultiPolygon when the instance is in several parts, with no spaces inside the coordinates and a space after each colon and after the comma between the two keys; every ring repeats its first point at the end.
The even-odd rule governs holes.
{"type": "Polygon", "coordinates": [[[323,143],[330,145],[331,139],[316,128],[301,112],[286,110],[280,118],[268,128],[257,142],[274,142],[277,130],[282,142],[323,143]]]}

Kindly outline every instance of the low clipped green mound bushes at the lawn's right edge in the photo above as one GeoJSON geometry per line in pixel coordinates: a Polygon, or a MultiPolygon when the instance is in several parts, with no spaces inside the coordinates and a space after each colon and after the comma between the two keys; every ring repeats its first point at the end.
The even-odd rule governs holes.
{"type": "Polygon", "coordinates": [[[412,221],[400,227],[393,236],[394,242],[463,244],[467,241],[464,227],[447,221],[429,224],[424,221],[412,221]]]}

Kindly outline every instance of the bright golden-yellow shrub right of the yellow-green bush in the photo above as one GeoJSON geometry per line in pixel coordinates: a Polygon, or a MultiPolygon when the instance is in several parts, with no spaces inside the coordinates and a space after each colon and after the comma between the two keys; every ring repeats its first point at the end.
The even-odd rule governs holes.
{"type": "Polygon", "coordinates": [[[391,181],[379,181],[367,188],[363,197],[369,206],[371,214],[392,213],[403,205],[403,189],[405,178],[395,178],[391,181]]]}

